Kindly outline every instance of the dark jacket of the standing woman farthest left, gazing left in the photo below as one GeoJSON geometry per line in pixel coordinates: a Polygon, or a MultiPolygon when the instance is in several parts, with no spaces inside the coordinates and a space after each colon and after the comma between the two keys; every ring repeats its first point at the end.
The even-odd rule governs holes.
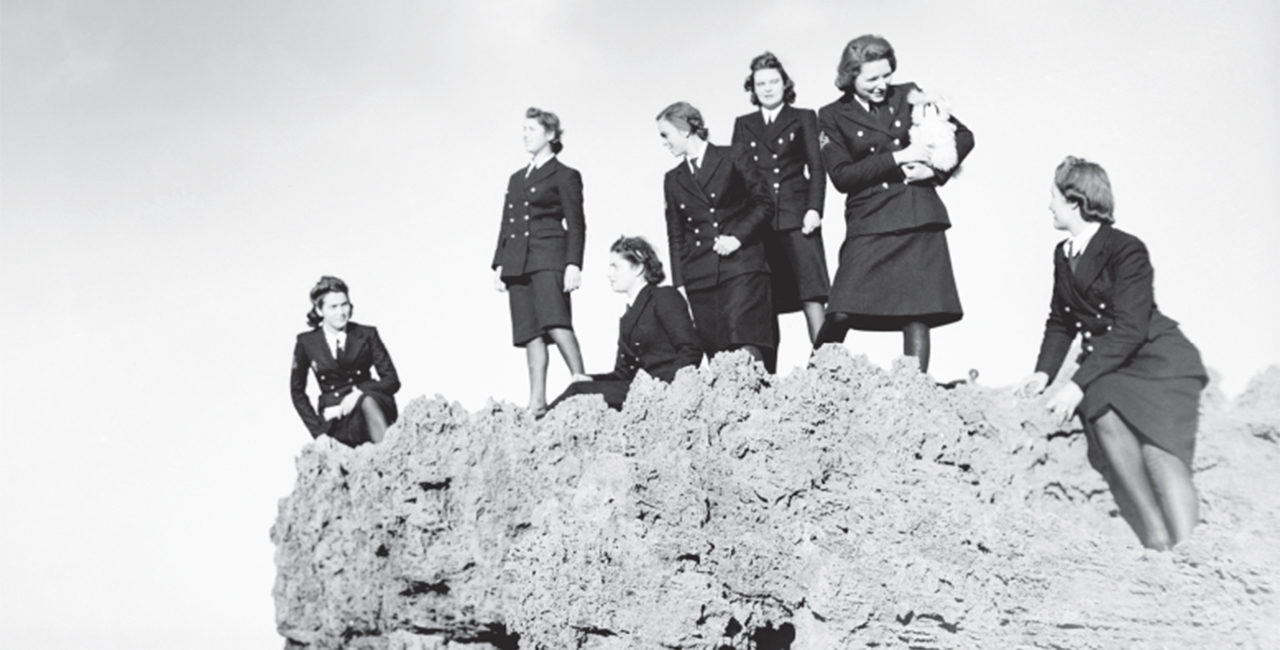
{"type": "Polygon", "coordinates": [[[507,182],[498,246],[492,269],[503,278],[532,271],[582,267],[586,220],[582,215],[582,175],[550,159],[529,178],[521,168],[507,182]]]}

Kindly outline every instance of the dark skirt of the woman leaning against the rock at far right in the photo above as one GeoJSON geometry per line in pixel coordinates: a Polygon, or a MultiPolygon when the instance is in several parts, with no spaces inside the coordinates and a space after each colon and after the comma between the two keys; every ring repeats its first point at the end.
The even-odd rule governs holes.
{"type": "Polygon", "coordinates": [[[1084,427],[1089,462],[1100,471],[1106,466],[1092,422],[1110,408],[1139,440],[1176,456],[1190,467],[1204,384],[1204,377],[1152,379],[1128,375],[1124,370],[1096,379],[1084,390],[1079,407],[1080,416],[1089,422],[1084,427]]]}

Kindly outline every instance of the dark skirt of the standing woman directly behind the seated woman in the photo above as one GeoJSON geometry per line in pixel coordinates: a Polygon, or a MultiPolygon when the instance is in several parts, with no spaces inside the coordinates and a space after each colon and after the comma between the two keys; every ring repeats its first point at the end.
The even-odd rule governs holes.
{"type": "Polygon", "coordinates": [[[708,356],[742,345],[768,351],[777,340],[767,273],[736,275],[709,289],[690,289],[689,310],[708,356]]]}

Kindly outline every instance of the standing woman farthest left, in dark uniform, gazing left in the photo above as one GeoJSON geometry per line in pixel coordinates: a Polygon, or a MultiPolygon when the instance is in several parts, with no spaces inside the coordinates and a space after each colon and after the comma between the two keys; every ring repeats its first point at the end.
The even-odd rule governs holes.
{"type": "Polygon", "coordinates": [[[507,182],[492,265],[494,287],[509,298],[512,342],[529,361],[535,415],[547,412],[548,343],[559,348],[575,380],[586,377],[568,297],[582,281],[582,175],[556,157],[562,133],[554,113],[525,111],[525,150],[532,160],[507,182]]]}

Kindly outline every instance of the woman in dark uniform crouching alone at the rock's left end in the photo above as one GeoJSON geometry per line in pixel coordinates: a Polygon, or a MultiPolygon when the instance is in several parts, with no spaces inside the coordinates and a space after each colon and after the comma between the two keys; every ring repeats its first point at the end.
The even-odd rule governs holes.
{"type": "Polygon", "coordinates": [[[328,435],[356,447],[381,441],[396,422],[392,395],[399,390],[399,377],[378,329],[351,322],[348,296],[347,284],[330,275],[311,288],[311,330],[298,334],[293,345],[289,392],[312,438],[328,435]],[[315,408],[307,400],[307,370],[320,384],[315,408]]]}

